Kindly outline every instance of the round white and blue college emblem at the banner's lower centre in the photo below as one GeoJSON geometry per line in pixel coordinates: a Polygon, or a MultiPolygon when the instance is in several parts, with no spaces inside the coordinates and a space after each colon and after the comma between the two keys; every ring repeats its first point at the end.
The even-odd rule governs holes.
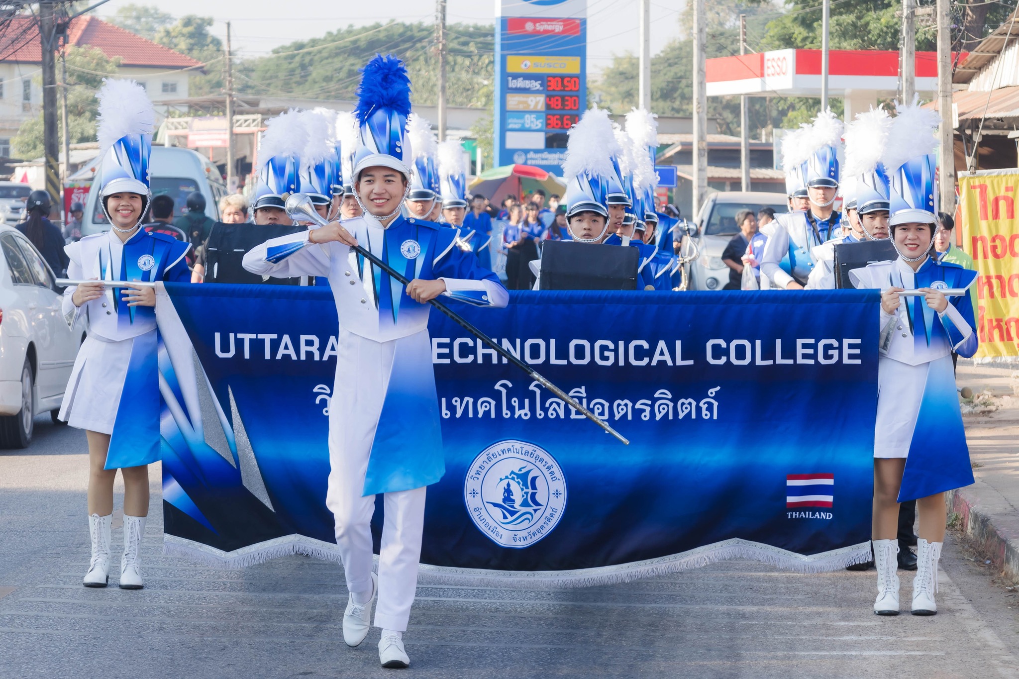
{"type": "Polygon", "coordinates": [[[500,441],[474,458],[464,478],[464,502],[489,540],[522,549],[558,524],[567,484],[548,451],[523,441],[500,441]]]}

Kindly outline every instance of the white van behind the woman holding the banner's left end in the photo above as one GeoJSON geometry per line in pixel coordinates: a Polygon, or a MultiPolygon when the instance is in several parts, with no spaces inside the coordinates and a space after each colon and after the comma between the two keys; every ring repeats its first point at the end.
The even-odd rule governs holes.
{"type": "MultiPolygon", "coordinates": [[[[101,169],[98,158],[95,163],[93,167],[96,169],[96,177],[99,177],[101,169]]],[[[149,173],[152,177],[152,195],[165,193],[173,199],[174,219],[183,214],[187,194],[201,191],[205,196],[205,214],[219,221],[219,200],[226,195],[226,185],[219,175],[219,169],[208,158],[191,149],[154,146],[149,160],[149,173]]],[[[93,188],[89,191],[89,202],[82,219],[82,235],[108,231],[110,228],[99,202],[98,188],[93,183],[93,188]]]]}

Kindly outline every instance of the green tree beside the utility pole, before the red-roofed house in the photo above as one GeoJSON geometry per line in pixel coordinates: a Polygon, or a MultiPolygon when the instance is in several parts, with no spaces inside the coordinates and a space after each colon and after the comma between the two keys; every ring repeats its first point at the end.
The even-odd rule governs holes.
{"type": "MultiPolygon", "coordinates": [[[[67,61],[67,130],[71,144],[96,139],[96,114],[99,102],[96,93],[103,78],[114,76],[120,58],[108,58],[94,47],[70,46],[65,52],[67,61]]],[[[42,80],[37,78],[37,84],[42,80]]],[[[58,134],[63,134],[61,117],[57,116],[58,134]]],[[[39,113],[21,123],[13,139],[18,158],[39,158],[43,155],[43,114],[39,113]]]]}

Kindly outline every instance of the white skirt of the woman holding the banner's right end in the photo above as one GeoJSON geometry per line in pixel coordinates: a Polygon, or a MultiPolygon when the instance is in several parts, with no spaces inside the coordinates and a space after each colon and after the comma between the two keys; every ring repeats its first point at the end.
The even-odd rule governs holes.
{"type": "Polygon", "coordinates": [[[888,356],[877,359],[874,457],[909,456],[928,366],[929,363],[910,365],[888,356]]]}

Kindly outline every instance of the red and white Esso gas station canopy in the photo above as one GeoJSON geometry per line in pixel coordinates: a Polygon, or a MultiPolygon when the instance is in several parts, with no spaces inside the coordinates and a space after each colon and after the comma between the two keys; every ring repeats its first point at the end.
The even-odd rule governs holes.
{"type": "MultiPolygon", "coordinates": [[[[899,91],[899,53],[890,50],[830,50],[828,94],[853,92],[893,96],[899,91]]],[[[916,53],[916,91],[937,91],[937,53],[916,53]]],[[[820,50],[774,50],[707,60],[708,97],[818,97],[820,50]]]]}

